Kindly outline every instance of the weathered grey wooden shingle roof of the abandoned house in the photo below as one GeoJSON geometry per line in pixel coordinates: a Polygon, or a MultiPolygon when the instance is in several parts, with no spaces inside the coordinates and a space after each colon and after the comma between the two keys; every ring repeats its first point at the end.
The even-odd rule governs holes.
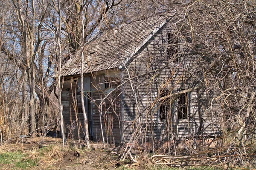
{"type": "MultiPolygon", "coordinates": [[[[127,58],[163,26],[165,20],[166,17],[155,16],[100,33],[84,46],[84,74],[117,68],[127,62],[127,58]]],[[[62,67],[61,76],[80,74],[80,62],[78,53],[62,67]]]]}

